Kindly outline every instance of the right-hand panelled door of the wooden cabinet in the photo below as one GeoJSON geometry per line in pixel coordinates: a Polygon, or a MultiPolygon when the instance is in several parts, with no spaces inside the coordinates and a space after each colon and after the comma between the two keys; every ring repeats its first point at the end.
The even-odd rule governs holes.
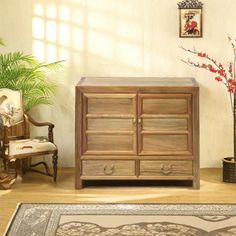
{"type": "Polygon", "coordinates": [[[191,94],[140,94],[140,155],[191,155],[191,94]]]}

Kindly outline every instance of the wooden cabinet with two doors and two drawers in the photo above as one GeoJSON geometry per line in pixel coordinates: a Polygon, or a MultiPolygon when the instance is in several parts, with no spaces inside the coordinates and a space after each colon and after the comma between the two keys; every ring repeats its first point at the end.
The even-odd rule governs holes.
{"type": "Polygon", "coordinates": [[[88,180],[191,180],[199,188],[192,78],[82,78],[76,86],[76,188],[88,180]]]}

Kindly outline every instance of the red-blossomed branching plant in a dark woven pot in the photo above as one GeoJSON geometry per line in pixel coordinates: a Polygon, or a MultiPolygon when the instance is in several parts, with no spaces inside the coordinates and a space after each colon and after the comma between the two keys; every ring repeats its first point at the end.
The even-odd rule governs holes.
{"type": "Polygon", "coordinates": [[[189,66],[193,66],[200,69],[205,69],[214,74],[214,79],[222,83],[227,89],[230,97],[230,104],[233,114],[233,137],[234,137],[234,156],[225,157],[223,159],[223,181],[236,183],[236,39],[228,36],[229,42],[233,48],[234,58],[227,67],[223,66],[222,63],[217,62],[211,58],[205,52],[199,52],[196,50],[189,50],[181,47],[184,51],[194,54],[201,58],[204,62],[193,62],[192,60],[184,60],[182,62],[189,66]]]}

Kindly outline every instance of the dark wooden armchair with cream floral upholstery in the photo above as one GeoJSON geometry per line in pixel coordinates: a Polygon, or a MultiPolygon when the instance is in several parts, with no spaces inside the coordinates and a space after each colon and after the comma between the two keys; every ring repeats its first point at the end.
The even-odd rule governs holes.
{"type": "Polygon", "coordinates": [[[9,169],[11,162],[21,163],[22,171],[16,168],[17,172],[33,170],[51,176],[56,181],[58,149],[53,142],[54,124],[36,122],[29,114],[25,114],[21,92],[0,89],[0,128],[0,156],[3,158],[5,170],[9,169]],[[30,123],[38,127],[48,126],[48,137],[31,139],[30,123]],[[52,154],[53,174],[46,162],[31,163],[32,157],[48,154],[52,154]],[[43,165],[46,171],[33,169],[38,165],[43,165]]]}

